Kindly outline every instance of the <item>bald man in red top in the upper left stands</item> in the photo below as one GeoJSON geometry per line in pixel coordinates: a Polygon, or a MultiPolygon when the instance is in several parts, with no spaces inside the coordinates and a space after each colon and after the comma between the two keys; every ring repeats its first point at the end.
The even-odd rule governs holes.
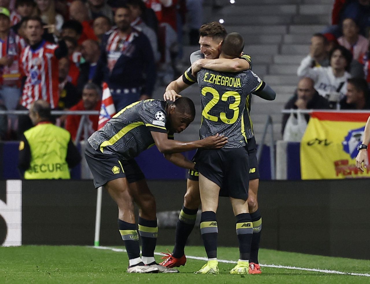
{"type": "Polygon", "coordinates": [[[82,25],[82,31],[80,34],[81,37],[77,39],[79,45],[86,39],[98,39],[94,34],[92,21],[89,18],[87,6],[83,3],[83,1],[75,0],[71,3],[70,17],[71,20],[79,21],[82,25]]]}

